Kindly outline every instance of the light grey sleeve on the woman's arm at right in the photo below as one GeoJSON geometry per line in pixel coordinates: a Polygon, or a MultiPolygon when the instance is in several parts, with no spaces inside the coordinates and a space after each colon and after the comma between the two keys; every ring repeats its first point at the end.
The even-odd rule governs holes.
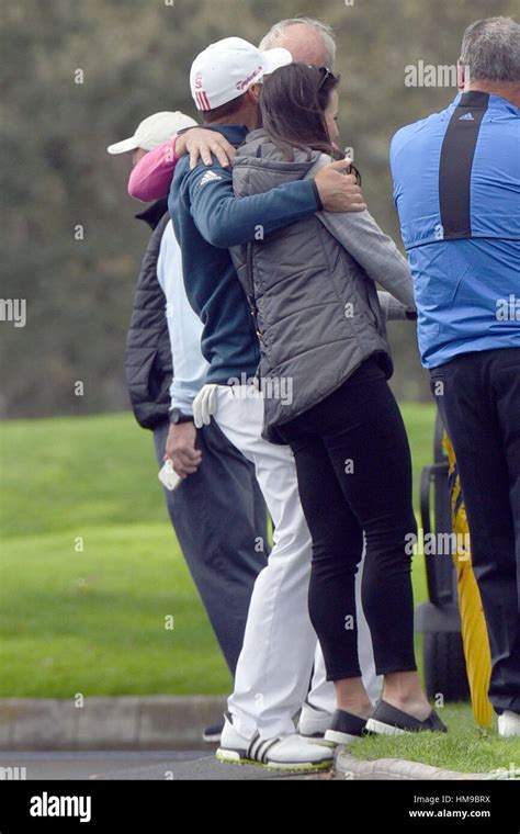
{"type": "MultiPolygon", "coordinates": [[[[318,168],[327,161],[327,157],[321,157],[308,176],[317,173],[318,168]]],[[[368,211],[317,212],[316,216],[373,281],[381,284],[406,309],[416,309],[408,261],[368,211]]]]}

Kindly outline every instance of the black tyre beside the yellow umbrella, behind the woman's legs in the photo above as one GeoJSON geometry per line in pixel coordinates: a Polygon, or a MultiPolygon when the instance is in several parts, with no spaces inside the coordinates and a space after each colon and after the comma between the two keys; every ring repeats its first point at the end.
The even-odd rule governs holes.
{"type": "Polygon", "coordinates": [[[428,698],[470,700],[462,636],[454,631],[427,631],[423,635],[425,683],[428,698]]]}

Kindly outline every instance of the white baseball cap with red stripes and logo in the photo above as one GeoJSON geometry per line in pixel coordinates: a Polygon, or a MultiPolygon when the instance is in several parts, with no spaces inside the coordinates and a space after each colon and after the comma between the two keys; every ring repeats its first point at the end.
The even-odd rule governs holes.
{"type": "Polygon", "coordinates": [[[190,72],[191,94],[201,111],[238,99],[251,84],[292,64],[289,49],[261,52],[241,37],[225,37],[196,56],[190,72]]]}

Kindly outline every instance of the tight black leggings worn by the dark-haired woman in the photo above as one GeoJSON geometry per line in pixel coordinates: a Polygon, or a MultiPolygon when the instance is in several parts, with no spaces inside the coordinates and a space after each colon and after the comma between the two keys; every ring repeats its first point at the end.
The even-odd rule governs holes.
{"type": "Polygon", "coordinates": [[[366,360],[338,391],[283,426],[313,538],[309,612],[328,680],[360,676],[354,581],[378,674],[417,668],[411,555],[411,459],[385,375],[366,360]]]}

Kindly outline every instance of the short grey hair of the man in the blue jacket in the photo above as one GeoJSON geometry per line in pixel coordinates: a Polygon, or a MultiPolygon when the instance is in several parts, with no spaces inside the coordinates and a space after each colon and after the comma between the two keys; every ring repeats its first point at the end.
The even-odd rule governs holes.
{"type": "Polygon", "coordinates": [[[472,81],[520,81],[520,24],[511,18],[472,23],[464,32],[461,61],[472,81]]]}

